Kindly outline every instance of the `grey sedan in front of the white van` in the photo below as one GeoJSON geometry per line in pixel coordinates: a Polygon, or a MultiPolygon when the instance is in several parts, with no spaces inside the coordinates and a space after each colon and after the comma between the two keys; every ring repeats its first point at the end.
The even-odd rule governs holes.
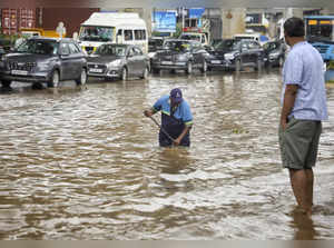
{"type": "Polygon", "coordinates": [[[130,76],[148,77],[149,58],[134,44],[105,43],[87,57],[88,76],[98,78],[120,78],[130,76]]]}

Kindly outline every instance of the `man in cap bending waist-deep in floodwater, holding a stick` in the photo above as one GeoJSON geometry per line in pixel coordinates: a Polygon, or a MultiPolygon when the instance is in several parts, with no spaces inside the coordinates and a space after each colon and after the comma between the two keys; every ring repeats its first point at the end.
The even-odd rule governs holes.
{"type": "Polygon", "coordinates": [[[151,109],[144,111],[144,115],[151,117],[158,111],[161,111],[160,147],[169,147],[171,145],[189,147],[193,115],[188,102],[183,99],[181,90],[178,88],[173,89],[169,96],[166,95],[158,99],[151,109]]]}

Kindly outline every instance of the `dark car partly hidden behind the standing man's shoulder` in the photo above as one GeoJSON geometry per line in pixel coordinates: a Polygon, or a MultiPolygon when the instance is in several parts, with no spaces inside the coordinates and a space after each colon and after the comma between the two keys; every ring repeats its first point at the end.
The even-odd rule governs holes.
{"type": "Polygon", "coordinates": [[[268,41],[263,46],[266,66],[283,67],[286,53],[286,44],[282,40],[268,41]]]}

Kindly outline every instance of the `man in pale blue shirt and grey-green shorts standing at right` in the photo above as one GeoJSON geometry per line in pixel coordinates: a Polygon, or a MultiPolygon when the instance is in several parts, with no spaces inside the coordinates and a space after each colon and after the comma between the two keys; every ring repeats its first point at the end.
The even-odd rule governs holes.
{"type": "Polygon", "coordinates": [[[304,36],[304,21],[289,18],[284,37],[291,51],[283,68],[279,148],[283,167],[302,210],[312,215],[314,176],[322,120],[326,120],[323,59],[304,36]]]}

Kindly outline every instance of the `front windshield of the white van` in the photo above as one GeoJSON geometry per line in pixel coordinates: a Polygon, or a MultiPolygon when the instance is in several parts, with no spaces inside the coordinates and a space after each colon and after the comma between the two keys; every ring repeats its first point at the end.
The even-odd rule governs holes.
{"type": "Polygon", "coordinates": [[[114,27],[81,27],[79,40],[81,41],[114,41],[115,28],[114,27]]]}

